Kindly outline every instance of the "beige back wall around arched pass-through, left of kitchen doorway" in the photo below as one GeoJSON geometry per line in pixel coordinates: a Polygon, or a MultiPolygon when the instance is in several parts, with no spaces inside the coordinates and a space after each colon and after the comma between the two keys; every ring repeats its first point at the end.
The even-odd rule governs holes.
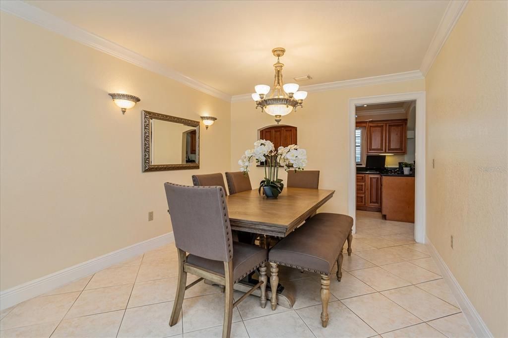
{"type": "MultiPolygon", "coordinates": [[[[347,214],[350,163],[349,99],[425,90],[425,81],[411,80],[365,87],[309,93],[304,107],[282,118],[281,124],[298,127],[298,145],[307,150],[309,170],[320,170],[320,187],[335,189],[323,211],[347,214]]],[[[255,109],[252,100],[231,104],[231,165],[238,170],[238,159],[257,140],[258,129],[273,125],[273,116],[255,109]]],[[[264,176],[263,168],[252,167],[253,187],[264,176]]],[[[286,175],[281,175],[285,180],[286,175]]]]}

